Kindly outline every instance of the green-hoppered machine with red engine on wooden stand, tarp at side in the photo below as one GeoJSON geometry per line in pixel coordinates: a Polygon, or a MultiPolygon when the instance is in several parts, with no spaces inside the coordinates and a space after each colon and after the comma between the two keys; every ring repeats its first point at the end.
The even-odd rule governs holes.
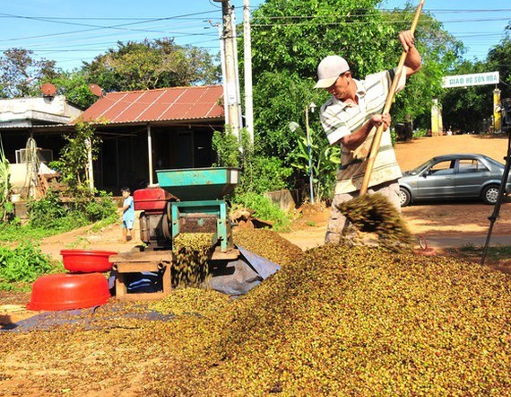
{"type": "MultiPolygon", "coordinates": [[[[178,234],[212,234],[209,287],[230,296],[245,294],[280,269],[278,264],[233,243],[229,208],[224,198],[238,184],[238,168],[159,170],[156,173],[158,186],[134,191],[134,209],[141,211],[143,249],[121,255],[116,264],[117,273],[121,275],[119,287],[124,286],[126,297],[132,298],[130,292],[135,288],[146,287],[136,284],[146,282],[145,278],[128,284],[123,274],[130,271],[159,269],[155,276],[160,280],[158,283],[168,286],[163,287],[162,294],[169,293],[170,268],[175,260],[172,250],[178,234]],[[162,274],[160,268],[165,269],[162,274]],[[132,287],[135,284],[137,287],[132,287]]],[[[141,296],[144,295],[136,295],[137,298],[141,296]]]]}

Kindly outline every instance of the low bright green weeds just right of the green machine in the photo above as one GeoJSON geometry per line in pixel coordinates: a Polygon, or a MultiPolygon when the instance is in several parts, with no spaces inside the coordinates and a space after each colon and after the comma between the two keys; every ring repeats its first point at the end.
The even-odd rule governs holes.
{"type": "Polygon", "coordinates": [[[290,215],[262,194],[255,192],[236,194],[231,202],[232,209],[250,208],[255,211],[255,216],[273,222],[273,230],[285,232],[289,229],[290,215]]]}

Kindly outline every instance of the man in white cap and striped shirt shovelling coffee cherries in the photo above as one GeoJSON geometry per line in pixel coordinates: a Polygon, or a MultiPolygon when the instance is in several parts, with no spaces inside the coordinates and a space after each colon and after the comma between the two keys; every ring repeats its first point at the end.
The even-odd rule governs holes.
{"type": "MultiPolygon", "coordinates": [[[[420,69],[420,54],[414,46],[411,31],[400,32],[399,40],[407,56],[397,91],[404,88],[407,76],[420,69]]],[[[342,154],[325,243],[339,243],[342,237],[353,237],[350,223],[338,206],[359,195],[374,133],[381,124],[384,133],[368,193],[379,192],[385,195],[401,211],[397,180],[402,177],[402,173],[387,130],[391,117],[390,114],[381,114],[394,75],[395,70],[386,70],[368,75],[365,80],[355,80],[351,76],[350,66],[339,56],[325,57],[317,67],[318,81],[315,88],[324,88],[332,94],[321,107],[321,123],[330,145],[341,145],[342,154]]]]}

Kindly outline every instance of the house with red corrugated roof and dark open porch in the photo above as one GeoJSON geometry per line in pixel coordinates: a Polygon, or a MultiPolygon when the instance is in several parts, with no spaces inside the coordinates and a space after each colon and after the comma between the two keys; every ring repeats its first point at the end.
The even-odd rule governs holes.
{"type": "Polygon", "coordinates": [[[212,134],[225,124],[221,85],[108,93],[79,119],[102,143],[95,186],[116,191],[156,183],[156,170],[209,167],[212,134]]]}

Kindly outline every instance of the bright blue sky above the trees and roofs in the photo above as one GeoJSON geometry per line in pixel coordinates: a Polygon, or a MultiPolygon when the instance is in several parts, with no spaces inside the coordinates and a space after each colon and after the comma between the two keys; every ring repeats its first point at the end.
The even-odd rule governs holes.
{"type": "MultiPolygon", "coordinates": [[[[342,1],[342,0],[340,0],[342,1]]],[[[250,0],[254,11],[264,0],[250,0]]],[[[243,0],[230,0],[243,22],[243,0]]],[[[381,8],[403,8],[406,0],[384,0],[381,8]]],[[[419,0],[411,0],[419,4],[419,0]]],[[[424,11],[468,49],[465,57],[484,60],[511,21],[509,0],[426,0],[424,11]]],[[[221,3],[214,0],[3,0],[0,3],[0,51],[30,49],[34,57],[56,60],[73,70],[117,41],[174,38],[216,53],[221,3]]]]}

